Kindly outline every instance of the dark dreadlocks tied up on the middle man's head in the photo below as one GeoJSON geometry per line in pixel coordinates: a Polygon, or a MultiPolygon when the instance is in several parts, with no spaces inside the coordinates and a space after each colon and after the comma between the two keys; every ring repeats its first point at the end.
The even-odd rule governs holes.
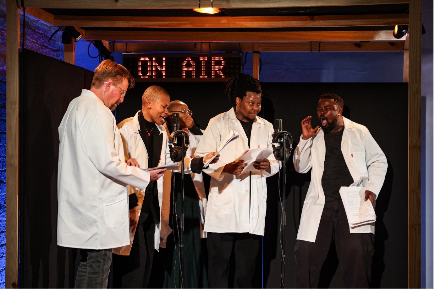
{"type": "Polygon", "coordinates": [[[258,79],[254,79],[250,75],[245,75],[239,72],[236,76],[233,76],[224,84],[227,86],[225,94],[228,94],[228,99],[230,100],[233,107],[236,107],[236,98],[243,99],[247,92],[255,92],[260,94],[261,85],[258,79]]]}

